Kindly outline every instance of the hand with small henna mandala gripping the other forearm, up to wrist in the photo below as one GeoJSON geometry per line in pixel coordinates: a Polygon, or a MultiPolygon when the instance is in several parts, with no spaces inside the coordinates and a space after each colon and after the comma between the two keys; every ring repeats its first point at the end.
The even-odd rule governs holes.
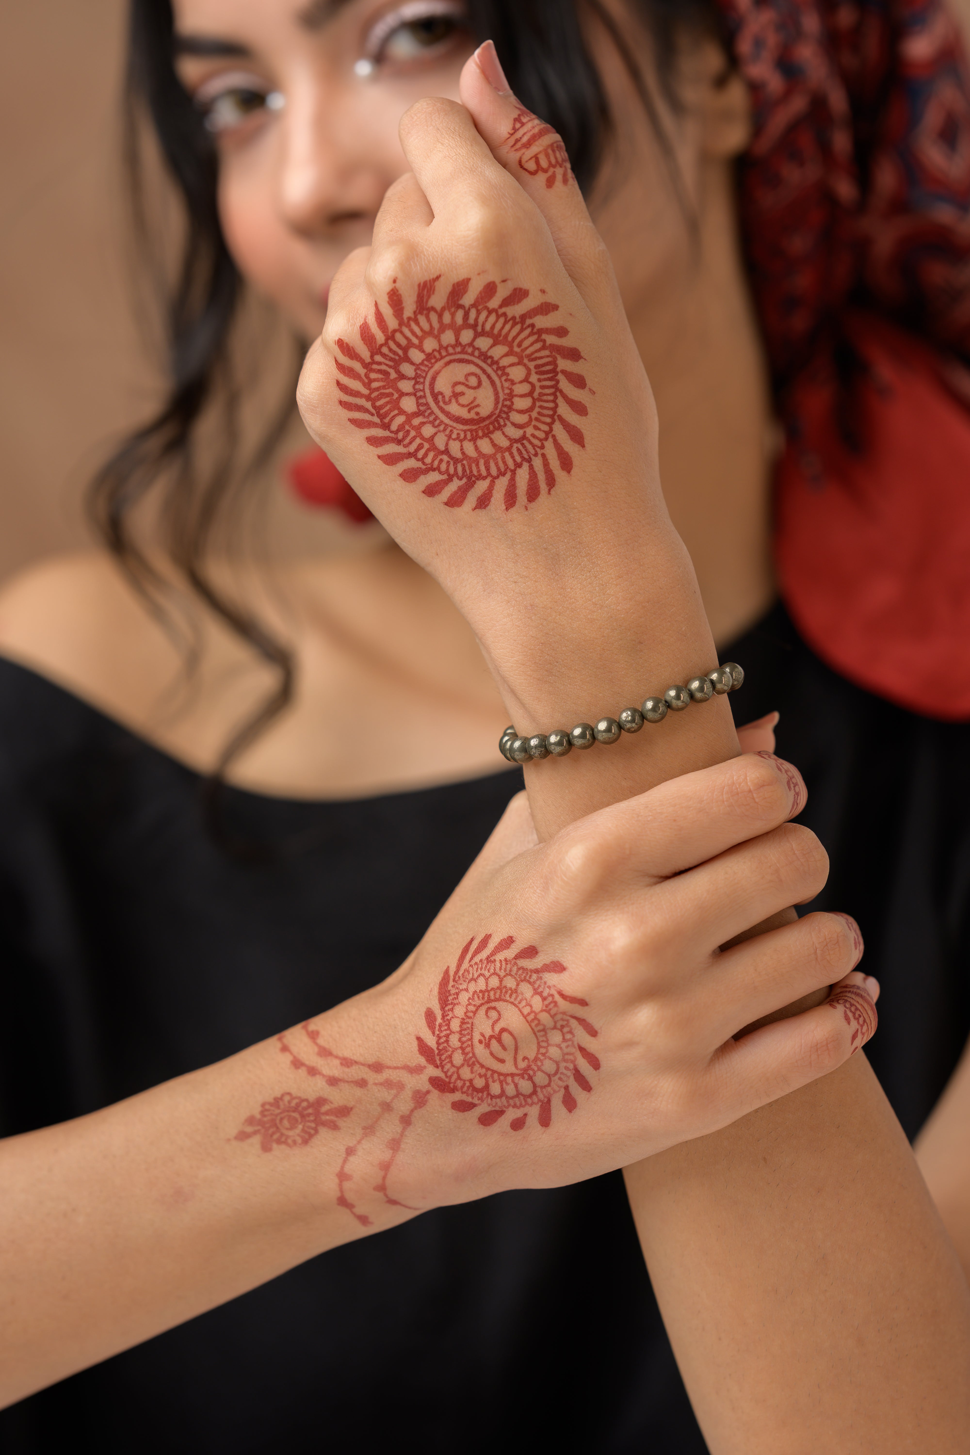
{"type": "Polygon", "coordinates": [[[875,1029],[855,924],[811,914],[718,949],[823,886],[822,845],[788,822],[803,803],[766,754],[544,845],[516,797],[409,962],[281,1037],[291,1075],[239,1139],[324,1129],[330,1197],[380,1227],[598,1176],[832,1071],[875,1029]],[[733,1039],[833,982],[826,1004],[733,1039]],[[311,1110],[314,1081],[330,1094],[311,1110]]]}

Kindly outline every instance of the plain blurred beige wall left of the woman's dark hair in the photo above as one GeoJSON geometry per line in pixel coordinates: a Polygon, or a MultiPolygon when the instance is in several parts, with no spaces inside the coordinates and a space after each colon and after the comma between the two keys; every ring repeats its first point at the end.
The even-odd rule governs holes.
{"type": "MultiPolygon", "coordinates": [[[[84,480],[156,397],[121,188],[125,12],[0,0],[0,578],[84,544],[84,480]]],[[[291,541],[324,530],[282,511],[291,541]]]]}

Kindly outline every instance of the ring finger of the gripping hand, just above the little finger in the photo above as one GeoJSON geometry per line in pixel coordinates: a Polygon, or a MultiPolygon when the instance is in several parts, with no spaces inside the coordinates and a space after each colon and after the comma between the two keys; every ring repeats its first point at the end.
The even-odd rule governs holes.
{"type": "MultiPolygon", "coordinates": [[[[809,914],[745,940],[702,972],[705,1013],[718,1043],[763,1016],[829,989],[862,959],[862,936],[849,915],[809,914]]],[[[685,986],[695,994],[697,981],[685,986]]]]}

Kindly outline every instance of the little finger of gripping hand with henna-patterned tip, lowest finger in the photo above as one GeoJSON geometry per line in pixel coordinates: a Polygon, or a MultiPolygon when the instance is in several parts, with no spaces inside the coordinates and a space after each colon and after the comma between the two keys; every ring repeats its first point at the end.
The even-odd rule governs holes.
{"type": "Polygon", "coordinates": [[[707,1094],[723,1094],[724,1081],[733,1083],[729,1099],[743,1107],[736,1112],[743,1116],[817,1081],[873,1039],[877,998],[878,981],[854,970],[832,986],[823,1005],[727,1042],[711,1062],[717,1093],[708,1088],[707,1094]]]}

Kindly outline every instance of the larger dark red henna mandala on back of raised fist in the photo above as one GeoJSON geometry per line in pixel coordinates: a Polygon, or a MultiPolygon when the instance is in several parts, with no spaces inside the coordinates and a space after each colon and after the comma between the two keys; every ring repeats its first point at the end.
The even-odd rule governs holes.
{"type": "Polygon", "coordinates": [[[448,490],[444,503],[454,509],[478,490],[473,509],[484,511],[502,485],[506,511],[519,501],[528,509],[542,485],[550,493],[560,473],[572,474],[570,447],[586,448],[566,415],[586,418],[589,406],[577,396],[592,390],[563,367],[583,356],[554,342],[569,338],[564,324],[538,322],[558,313],[557,303],[522,307],[528,288],[494,303],[496,282],[465,303],[471,278],[462,278],[432,307],[439,281],[419,284],[412,313],[398,288],[390,290],[396,326],[374,306],[377,332],[366,322],[359,330],[366,355],[337,339],[340,404],[378,460],[409,485],[423,480],[425,495],[448,490]]]}

